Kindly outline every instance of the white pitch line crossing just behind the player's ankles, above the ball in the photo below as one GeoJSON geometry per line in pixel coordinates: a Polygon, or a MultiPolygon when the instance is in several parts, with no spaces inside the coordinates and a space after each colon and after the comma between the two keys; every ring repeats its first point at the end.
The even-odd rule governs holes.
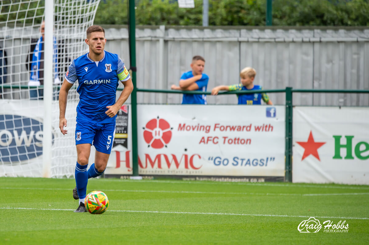
{"type": "MultiPolygon", "coordinates": [[[[70,191],[70,189],[62,188],[16,188],[16,187],[0,187],[0,189],[25,189],[25,190],[47,190],[47,191],[70,191]]],[[[317,193],[317,194],[300,194],[300,193],[254,193],[254,192],[205,192],[205,191],[153,191],[153,190],[111,190],[121,192],[154,192],[154,193],[189,193],[189,194],[217,194],[217,195],[265,195],[265,196],[342,196],[342,195],[369,195],[369,192],[362,193],[317,193]]]]}

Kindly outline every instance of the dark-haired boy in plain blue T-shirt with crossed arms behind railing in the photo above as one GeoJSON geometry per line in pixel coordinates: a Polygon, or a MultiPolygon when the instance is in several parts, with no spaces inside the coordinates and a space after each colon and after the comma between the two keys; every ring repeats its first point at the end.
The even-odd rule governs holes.
{"type": "MultiPolygon", "coordinates": [[[[201,56],[194,56],[190,66],[192,71],[187,71],[182,74],[179,86],[173,84],[170,88],[205,92],[209,81],[208,75],[203,73],[205,59],[201,56]]],[[[206,95],[183,94],[182,104],[207,104],[206,95]]]]}

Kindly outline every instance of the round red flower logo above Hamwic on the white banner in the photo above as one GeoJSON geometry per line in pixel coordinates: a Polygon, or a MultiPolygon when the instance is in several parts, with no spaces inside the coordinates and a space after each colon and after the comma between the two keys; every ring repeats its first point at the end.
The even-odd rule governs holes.
{"type": "Polygon", "coordinates": [[[172,129],[167,121],[159,119],[159,117],[151,119],[146,123],[146,127],[143,128],[145,142],[148,143],[148,147],[154,149],[161,149],[169,143],[172,138],[172,129]]]}

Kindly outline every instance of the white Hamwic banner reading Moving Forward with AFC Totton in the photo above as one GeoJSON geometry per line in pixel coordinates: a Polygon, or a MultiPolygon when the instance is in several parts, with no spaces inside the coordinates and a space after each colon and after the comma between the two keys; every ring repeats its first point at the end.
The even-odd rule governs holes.
{"type": "MultiPolygon", "coordinates": [[[[284,177],[284,106],[138,105],[137,112],[140,175],[284,177]]],[[[120,149],[108,173],[131,174],[131,143],[120,149]]]]}

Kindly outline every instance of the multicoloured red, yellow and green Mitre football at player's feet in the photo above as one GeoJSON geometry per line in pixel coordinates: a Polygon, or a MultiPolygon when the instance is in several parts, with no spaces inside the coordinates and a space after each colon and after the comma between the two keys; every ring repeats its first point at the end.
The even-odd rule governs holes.
{"type": "Polygon", "coordinates": [[[102,191],[92,191],[86,195],[85,207],[89,213],[104,213],[109,206],[107,195],[102,191]]]}

